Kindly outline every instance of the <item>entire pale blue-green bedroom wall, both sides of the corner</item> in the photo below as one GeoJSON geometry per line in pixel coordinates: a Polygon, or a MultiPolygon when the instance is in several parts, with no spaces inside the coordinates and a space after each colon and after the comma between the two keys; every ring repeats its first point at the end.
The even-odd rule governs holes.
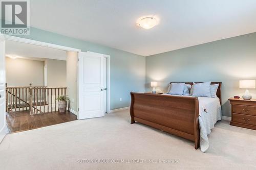
{"type": "MultiPolygon", "coordinates": [[[[230,116],[227,99],[244,92],[238,81],[256,79],[256,33],[146,58],[35,28],[31,28],[30,36],[19,37],[110,55],[111,109],[129,106],[130,91],[144,92],[145,82],[146,90],[150,90],[151,81],[158,81],[158,89],[166,91],[170,81],[222,81],[223,115],[230,116]]],[[[250,92],[256,98],[256,90],[250,92]]]]}

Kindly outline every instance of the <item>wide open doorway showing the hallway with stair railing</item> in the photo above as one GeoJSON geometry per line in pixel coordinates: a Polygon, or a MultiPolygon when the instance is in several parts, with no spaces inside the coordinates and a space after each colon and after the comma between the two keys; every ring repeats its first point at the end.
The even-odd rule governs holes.
{"type": "Polygon", "coordinates": [[[7,133],[77,119],[77,53],[6,40],[5,60],[7,133]]]}

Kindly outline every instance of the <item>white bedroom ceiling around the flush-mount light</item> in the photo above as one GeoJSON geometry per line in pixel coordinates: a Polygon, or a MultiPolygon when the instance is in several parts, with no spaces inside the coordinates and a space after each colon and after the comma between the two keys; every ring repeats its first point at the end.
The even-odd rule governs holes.
{"type": "Polygon", "coordinates": [[[148,56],[256,32],[255,0],[30,1],[31,26],[148,56]],[[142,16],[159,18],[145,30],[142,16]]]}

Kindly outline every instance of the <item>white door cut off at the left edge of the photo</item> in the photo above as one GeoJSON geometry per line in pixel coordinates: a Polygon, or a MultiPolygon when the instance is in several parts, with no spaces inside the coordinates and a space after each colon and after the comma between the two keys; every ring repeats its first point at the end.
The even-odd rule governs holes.
{"type": "Polygon", "coordinates": [[[5,38],[0,35],[0,142],[5,134],[5,38]]]}

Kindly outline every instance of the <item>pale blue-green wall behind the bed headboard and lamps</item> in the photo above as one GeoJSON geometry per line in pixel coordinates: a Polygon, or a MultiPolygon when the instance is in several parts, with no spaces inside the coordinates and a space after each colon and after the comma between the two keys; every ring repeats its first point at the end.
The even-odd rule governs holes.
{"type": "MultiPolygon", "coordinates": [[[[223,115],[230,116],[228,98],[242,96],[239,80],[256,79],[256,33],[214,41],[146,57],[146,86],[159,82],[222,82],[223,115]]],[[[256,90],[251,89],[253,98],[256,90]]]]}

